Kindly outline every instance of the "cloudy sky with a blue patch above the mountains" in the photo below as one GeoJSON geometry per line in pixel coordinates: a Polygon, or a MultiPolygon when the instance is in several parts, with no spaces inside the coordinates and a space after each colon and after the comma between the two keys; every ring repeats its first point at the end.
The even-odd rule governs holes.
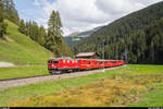
{"type": "Polygon", "coordinates": [[[14,0],[21,19],[46,28],[52,10],[59,11],[64,36],[106,25],[160,1],[163,0],[14,0]]]}

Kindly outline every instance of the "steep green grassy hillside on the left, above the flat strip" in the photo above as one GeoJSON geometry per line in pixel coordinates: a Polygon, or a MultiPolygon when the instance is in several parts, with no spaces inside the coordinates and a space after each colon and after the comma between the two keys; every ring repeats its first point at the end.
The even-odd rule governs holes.
{"type": "Polygon", "coordinates": [[[0,61],[14,64],[46,63],[52,52],[29,37],[21,34],[17,26],[9,21],[7,40],[0,39],[0,61]]]}

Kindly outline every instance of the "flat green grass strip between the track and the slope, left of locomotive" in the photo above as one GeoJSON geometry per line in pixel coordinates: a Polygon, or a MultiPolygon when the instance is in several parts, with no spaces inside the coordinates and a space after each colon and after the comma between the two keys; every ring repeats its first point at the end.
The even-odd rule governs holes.
{"type": "Polygon", "coordinates": [[[0,68],[0,80],[49,74],[47,65],[0,68]]]}

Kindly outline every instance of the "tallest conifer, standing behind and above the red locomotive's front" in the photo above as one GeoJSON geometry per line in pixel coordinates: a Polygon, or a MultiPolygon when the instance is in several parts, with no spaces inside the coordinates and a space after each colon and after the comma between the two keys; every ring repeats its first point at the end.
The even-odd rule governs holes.
{"type": "Polygon", "coordinates": [[[52,11],[48,22],[48,36],[46,47],[57,56],[71,56],[71,49],[64,44],[62,36],[60,13],[52,11]]]}

